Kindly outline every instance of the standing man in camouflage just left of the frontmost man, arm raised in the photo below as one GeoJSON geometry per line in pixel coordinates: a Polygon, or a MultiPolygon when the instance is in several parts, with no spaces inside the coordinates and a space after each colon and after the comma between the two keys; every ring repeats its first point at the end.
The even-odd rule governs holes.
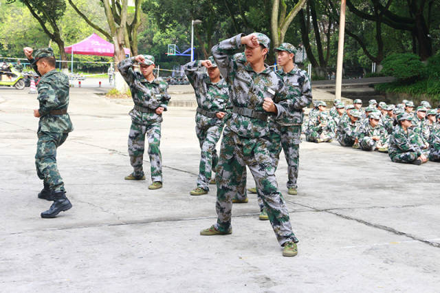
{"type": "Polygon", "coordinates": [[[228,84],[221,78],[212,57],[186,63],[184,70],[197,99],[195,131],[201,149],[197,188],[190,191],[190,195],[204,195],[209,191],[211,171],[215,170],[219,160],[215,146],[223,131],[223,117],[229,99],[228,84]],[[201,72],[202,67],[206,67],[208,73],[201,72]]]}

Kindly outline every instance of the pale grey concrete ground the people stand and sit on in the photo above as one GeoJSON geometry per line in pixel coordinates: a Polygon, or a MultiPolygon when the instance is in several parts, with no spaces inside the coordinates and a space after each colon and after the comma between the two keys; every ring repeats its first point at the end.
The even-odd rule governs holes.
{"type": "Polygon", "coordinates": [[[57,157],[74,207],[41,219],[50,202],[36,197],[38,102],[27,91],[0,88],[0,292],[439,292],[438,163],[303,142],[298,195],[287,195],[284,160],[276,173],[300,239],[285,258],[255,195],[234,205],[232,235],[199,235],[216,221],[216,187],[188,194],[194,107],[164,114],[164,188],[149,191],[123,179],[131,101],[74,88],[75,130],[57,157]]]}

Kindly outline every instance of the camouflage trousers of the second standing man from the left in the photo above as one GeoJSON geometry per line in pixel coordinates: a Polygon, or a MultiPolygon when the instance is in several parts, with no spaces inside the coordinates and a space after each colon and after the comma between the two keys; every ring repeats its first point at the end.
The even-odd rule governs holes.
{"type": "Polygon", "coordinates": [[[151,180],[162,182],[162,154],[160,153],[160,122],[151,124],[137,124],[131,122],[129,134],[130,164],[133,166],[133,175],[143,176],[145,136],[148,140],[148,156],[151,163],[151,180]]]}

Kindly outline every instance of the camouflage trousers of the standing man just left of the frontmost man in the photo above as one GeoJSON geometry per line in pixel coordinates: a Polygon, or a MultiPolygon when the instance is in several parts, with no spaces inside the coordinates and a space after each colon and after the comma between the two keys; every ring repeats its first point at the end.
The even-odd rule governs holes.
{"type": "Polygon", "coordinates": [[[212,170],[214,169],[215,171],[215,166],[217,166],[217,162],[219,161],[215,146],[220,139],[222,130],[223,124],[195,127],[195,133],[199,139],[201,149],[197,187],[203,188],[206,191],[209,191],[209,180],[211,179],[212,170]]]}

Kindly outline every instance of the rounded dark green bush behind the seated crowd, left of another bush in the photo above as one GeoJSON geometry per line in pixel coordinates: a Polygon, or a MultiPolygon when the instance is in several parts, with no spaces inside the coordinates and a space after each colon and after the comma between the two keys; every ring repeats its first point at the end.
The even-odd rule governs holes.
{"type": "Polygon", "coordinates": [[[394,76],[401,83],[414,82],[425,72],[420,57],[412,53],[391,54],[382,61],[382,65],[382,74],[394,76]]]}

